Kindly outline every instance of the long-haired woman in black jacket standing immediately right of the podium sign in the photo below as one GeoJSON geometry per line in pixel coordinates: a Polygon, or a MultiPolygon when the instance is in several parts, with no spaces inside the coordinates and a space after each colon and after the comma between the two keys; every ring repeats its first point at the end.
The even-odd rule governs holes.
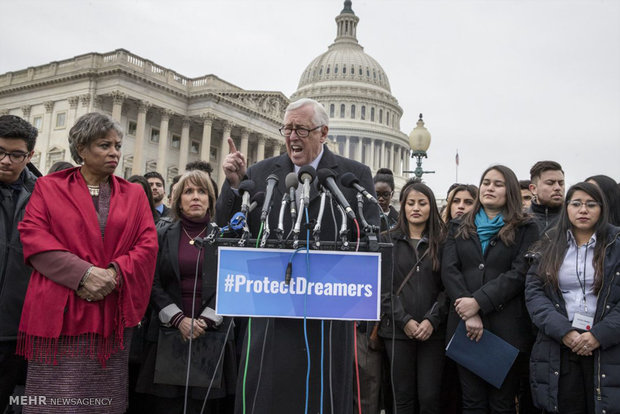
{"type": "Polygon", "coordinates": [[[439,413],[448,299],[441,285],[445,235],[432,190],[409,182],[401,190],[391,289],[382,295],[384,338],[399,414],[439,413]]]}

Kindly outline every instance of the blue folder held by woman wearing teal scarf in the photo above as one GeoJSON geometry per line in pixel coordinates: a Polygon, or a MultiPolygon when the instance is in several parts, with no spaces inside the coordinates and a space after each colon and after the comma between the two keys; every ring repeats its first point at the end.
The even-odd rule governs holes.
{"type": "Polygon", "coordinates": [[[450,359],[498,389],[518,354],[517,348],[486,329],[480,342],[470,340],[463,321],[446,347],[450,359]]]}

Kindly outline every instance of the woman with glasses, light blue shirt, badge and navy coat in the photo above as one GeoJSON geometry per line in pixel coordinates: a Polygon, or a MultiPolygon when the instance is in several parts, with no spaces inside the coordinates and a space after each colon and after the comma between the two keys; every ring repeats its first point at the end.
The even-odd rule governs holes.
{"type": "Polygon", "coordinates": [[[605,197],[572,186],[557,227],[535,248],[525,288],[538,327],[534,403],[547,412],[620,412],[620,228],[605,197]]]}

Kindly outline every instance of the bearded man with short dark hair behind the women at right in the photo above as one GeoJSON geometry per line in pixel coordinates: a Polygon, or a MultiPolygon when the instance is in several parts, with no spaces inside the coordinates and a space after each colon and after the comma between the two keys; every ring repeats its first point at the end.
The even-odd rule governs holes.
{"type": "Polygon", "coordinates": [[[538,161],[530,169],[530,191],[532,205],[529,213],[542,235],[545,229],[552,227],[562,210],[564,202],[564,171],[555,161],[538,161]]]}

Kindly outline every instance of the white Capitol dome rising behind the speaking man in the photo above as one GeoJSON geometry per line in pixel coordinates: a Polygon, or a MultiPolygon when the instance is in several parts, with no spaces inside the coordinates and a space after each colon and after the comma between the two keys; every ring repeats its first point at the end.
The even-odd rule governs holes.
{"type": "Polygon", "coordinates": [[[381,65],[358,43],[358,22],[351,1],[345,1],[334,43],[303,71],[291,101],[321,102],[330,118],[331,148],[373,173],[390,168],[400,187],[409,166],[408,137],[400,131],[403,110],[381,65]]]}

